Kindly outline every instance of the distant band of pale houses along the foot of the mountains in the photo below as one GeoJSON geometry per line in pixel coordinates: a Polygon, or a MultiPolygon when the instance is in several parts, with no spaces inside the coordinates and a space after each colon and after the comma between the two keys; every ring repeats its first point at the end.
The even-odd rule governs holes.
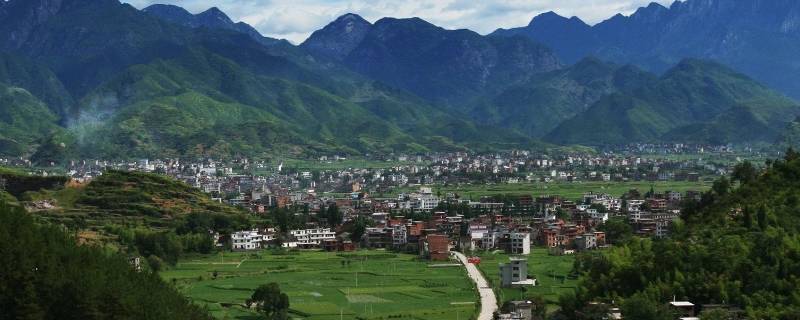
{"type": "MultiPolygon", "coordinates": [[[[556,181],[696,181],[725,174],[731,163],[697,158],[668,157],[681,154],[732,154],[726,146],[631,145],[604,153],[539,154],[509,151],[492,154],[466,152],[426,155],[370,155],[370,161],[385,161],[374,168],[303,169],[281,162],[239,158],[233,160],[141,159],[137,161],[76,160],[63,168],[80,182],[109,169],[155,172],[169,175],[203,190],[220,202],[263,213],[269,207],[308,206],[315,209],[330,201],[363,199],[361,206],[373,212],[388,210],[431,210],[445,195],[429,190],[399,196],[398,189],[441,184],[549,183],[556,181]],[[642,156],[656,154],[660,156],[642,156]],[[329,194],[346,194],[334,199],[329,194]]],[[[742,152],[739,150],[738,152],[742,152]]],[[[757,153],[753,155],[758,156],[757,153]]],[[[308,160],[313,167],[337,168],[347,161],[338,155],[308,160]]],[[[31,167],[28,160],[0,158],[0,165],[31,167]]],[[[343,166],[342,166],[343,167],[343,166]]],[[[53,171],[57,171],[53,168],[53,171]]],[[[48,174],[41,170],[40,174],[48,174]]],[[[51,172],[52,173],[52,172],[51,172]]],[[[369,211],[367,210],[367,211],[369,211]]]]}

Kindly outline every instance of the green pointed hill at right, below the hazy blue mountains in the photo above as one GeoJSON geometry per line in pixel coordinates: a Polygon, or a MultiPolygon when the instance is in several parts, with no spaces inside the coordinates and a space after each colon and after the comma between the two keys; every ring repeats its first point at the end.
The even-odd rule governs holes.
{"type": "Polygon", "coordinates": [[[631,142],[772,142],[800,105],[722,65],[685,60],[658,81],[603,97],[546,139],[631,142]]]}

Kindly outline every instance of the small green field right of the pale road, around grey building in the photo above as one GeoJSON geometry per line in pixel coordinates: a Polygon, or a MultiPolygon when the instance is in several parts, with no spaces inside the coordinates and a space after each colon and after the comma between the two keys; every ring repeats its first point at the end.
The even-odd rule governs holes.
{"type": "Polygon", "coordinates": [[[569,277],[575,256],[551,256],[547,253],[547,249],[531,249],[531,254],[528,256],[528,277],[536,278],[538,283],[535,287],[526,287],[524,290],[499,287],[499,265],[507,263],[509,255],[485,252],[479,256],[481,263],[478,268],[492,284],[501,305],[506,301],[542,296],[548,305],[554,308],[561,294],[572,292],[578,286],[578,279],[569,277]]]}

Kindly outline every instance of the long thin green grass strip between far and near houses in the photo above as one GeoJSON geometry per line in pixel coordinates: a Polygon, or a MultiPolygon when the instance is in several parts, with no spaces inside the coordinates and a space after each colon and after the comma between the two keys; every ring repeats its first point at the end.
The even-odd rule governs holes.
{"type": "MultiPolygon", "coordinates": [[[[622,196],[631,189],[638,189],[642,193],[653,187],[656,192],[688,190],[705,191],[711,188],[710,182],[688,181],[634,181],[634,182],[550,182],[550,183],[519,183],[519,184],[462,184],[458,186],[434,186],[434,192],[441,191],[447,194],[454,192],[465,199],[479,200],[483,196],[494,195],[559,195],[566,199],[580,199],[584,193],[607,193],[612,196],[622,196]]],[[[416,191],[419,187],[394,190],[395,193],[416,191]]]]}

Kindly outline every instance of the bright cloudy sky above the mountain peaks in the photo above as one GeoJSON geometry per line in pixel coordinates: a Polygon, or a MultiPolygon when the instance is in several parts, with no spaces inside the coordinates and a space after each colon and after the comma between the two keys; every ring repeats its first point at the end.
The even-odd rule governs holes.
{"type": "Polygon", "coordinates": [[[382,17],[420,17],[448,29],[486,34],[527,25],[539,13],[578,16],[589,24],[614,14],[630,14],[650,2],[673,0],[123,0],[137,8],[169,3],[198,13],[216,6],[234,21],[244,21],[265,36],[301,43],[314,30],[345,13],[375,22],[382,17]]]}

